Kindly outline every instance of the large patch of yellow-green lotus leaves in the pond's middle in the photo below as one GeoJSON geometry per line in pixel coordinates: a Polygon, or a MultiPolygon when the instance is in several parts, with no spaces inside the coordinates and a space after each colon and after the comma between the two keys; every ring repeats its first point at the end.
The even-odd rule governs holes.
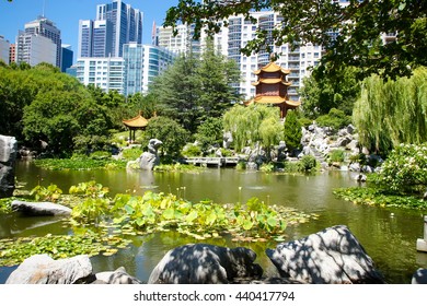
{"type": "Polygon", "coordinates": [[[231,234],[234,238],[282,238],[288,222],[305,222],[313,215],[267,205],[256,198],[243,204],[211,200],[193,203],[175,195],[147,191],[141,196],[117,195],[109,212],[118,225],[148,233],[176,229],[197,239],[231,234]]]}

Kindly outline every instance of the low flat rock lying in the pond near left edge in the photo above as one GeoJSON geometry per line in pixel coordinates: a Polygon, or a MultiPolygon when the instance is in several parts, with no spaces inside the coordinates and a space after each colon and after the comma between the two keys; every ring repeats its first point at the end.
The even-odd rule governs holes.
{"type": "Polygon", "coordinates": [[[23,215],[27,215],[27,216],[71,214],[70,208],[51,203],[51,202],[25,202],[25,201],[14,200],[12,201],[11,207],[13,211],[19,211],[23,215]]]}

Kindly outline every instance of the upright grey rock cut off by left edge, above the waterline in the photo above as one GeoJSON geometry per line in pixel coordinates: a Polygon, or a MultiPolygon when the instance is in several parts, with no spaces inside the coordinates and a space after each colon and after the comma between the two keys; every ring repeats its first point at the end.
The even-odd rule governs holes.
{"type": "Polygon", "coordinates": [[[0,198],[13,196],[18,143],[14,137],[0,136],[0,198]]]}

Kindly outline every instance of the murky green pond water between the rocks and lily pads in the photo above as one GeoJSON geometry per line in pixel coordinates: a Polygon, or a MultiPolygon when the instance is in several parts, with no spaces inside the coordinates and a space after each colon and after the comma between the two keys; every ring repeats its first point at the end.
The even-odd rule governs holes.
{"type": "MultiPolygon", "coordinates": [[[[41,181],[50,183],[68,193],[72,185],[96,180],[107,186],[112,195],[147,190],[172,192],[191,200],[211,199],[218,203],[246,201],[252,197],[272,203],[315,213],[311,220],[297,226],[288,226],[287,240],[299,239],[326,227],[347,225],[373,259],[389,283],[411,283],[418,268],[427,268],[427,254],[416,251],[416,239],[423,237],[423,213],[402,209],[383,209],[355,205],[335,198],[334,188],[357,186],[349,172],[324,172],[312,176],[285,175],[262,172],[241,172],[233,168],[206,168],[200,173],[150,173],[128,170],[53,172],[36,167],[31,162],[19,162],[16,179],[31,190],[41,181]]],[[[59,220],[51,217],[19,217],[0,215],[0,238],[18,236],[44,236],[69,234],[59,220]]],[[[113,256],[91,258],[95,272],[125,267],[126,271],[146,282],[151,270],[163,255],[182,244],[196,243],[193,238],[168,232],[132,237],[132,244],[113,256]]],[[[257,261],[265,274],[274,274],[275,268],[265,256],[266,246],[235,243],[229,237],[205,240],[222,246],[245,246],[258,255],[257,261]]],[[[15,267],[0,267],[0,283],[4,283],[15,267]]]]}

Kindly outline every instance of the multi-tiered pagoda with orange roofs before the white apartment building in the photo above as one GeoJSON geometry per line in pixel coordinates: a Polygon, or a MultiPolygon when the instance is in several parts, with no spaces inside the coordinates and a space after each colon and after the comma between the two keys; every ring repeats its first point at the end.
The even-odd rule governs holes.
{"type": "Polygon", "coordinates": [[[290,71],[281,68],[274,61],[263,68],[254,71],[258,76],[255,83],[255,97],[247,101],[245,105],[251,104],[270,104],[280,107],[280,118],[285,118],[288,109],[295,109],[301,105],[301,102],[290,101],[288,96],[288,87],[290,82],[287,76],[290,71]]]}

